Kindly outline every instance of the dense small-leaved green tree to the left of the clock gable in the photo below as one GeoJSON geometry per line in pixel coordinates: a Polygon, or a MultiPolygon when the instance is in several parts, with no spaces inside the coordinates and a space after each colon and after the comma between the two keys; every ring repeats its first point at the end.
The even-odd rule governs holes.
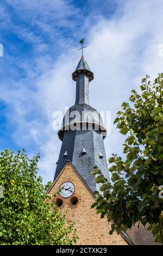
{"type": "Polygon", "coordinates": [[[37,176],[40,156],[29,159],[23,151],[4,150],[0,157],[0,245],[71,245],[74,223],[66,227],[65,213],[46,194],[37,176]],[[1,191],[2,192],[2,191],[1,191]]]}

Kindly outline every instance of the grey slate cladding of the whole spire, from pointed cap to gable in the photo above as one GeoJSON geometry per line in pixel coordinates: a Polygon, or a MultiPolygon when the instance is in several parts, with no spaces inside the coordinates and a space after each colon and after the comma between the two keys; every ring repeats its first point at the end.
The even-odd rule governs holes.
{"type": "MultiPolygon", "coordinates": [[[[109,180],[109,172],[105,155],[104,148],[104,125],[102,123],[102,118],[95,108],[92,108],[89,104],[89,81],[90,68],[86,63],[86,60],[82,57],[77,66],[76,71],[73,73],[76,77],[76,103],[70,109],[68,109],[68,118],[65,117],[62,122],[62,127],[58,132],[59,138],[62,140],[61,150],[59,154],[57,168],[55,170],[54,179],[57,178],[62,168],[64,168],[67,161],[71,161],[73,166],[77,169],[78,173],[85,180],[86,184],[91,188],[92,192],[99,190],[101,185],[95,183],[95,176],[92,175],[93,167],[98,166],[102,173],[109,180]],[[76,73],[80,70],[84,72],[76,73]],[[86,71],[85,71],[86,70],[86,71]],[[73,123],[73,113],[74,111],[79,112],[79,117],[74,120],[74,125],[80,124],[75,130],[66,130],[73,123]],[[82,113],[84,112],[84,116],[82,113]],[[99,117],[99,121],[95,119],[90,119],[90,113],[95,112],[99,117]],[[92,122],[92,129],[89,129],[89,122],[92,122]],[[83,123],[87,123],[83,126],[83,123]],[[96,125],[97,124],[97,125],[96,125]],[[97,126],[100,129],[97,130],[97,126]],[[82,128],[82,129],[81,129],[82,128]],[[83,148],[86,154],[82,154],[83,148]],[[67,151],[67,156],[64,156],[65,151],[67,151]],[[103,158],[99,157],[100,153],[103,158]]],[[[72,74],[72,76],[73,76],[72,74]]],[[[91,72],[91,77],[93,73],[91,72]]]]}

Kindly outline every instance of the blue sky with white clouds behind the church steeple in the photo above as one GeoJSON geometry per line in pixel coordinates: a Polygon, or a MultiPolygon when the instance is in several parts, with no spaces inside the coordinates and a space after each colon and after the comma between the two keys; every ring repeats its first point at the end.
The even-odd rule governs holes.
{"type": "Polygon", "coordinates": [[[113,121],[146,74],[163,72],[162,13],[162,0],[1,0],[0,150],[40,153],[39,175],[53,180],[61,141],[52,115],[74,105],[84,38],[91,106],[111,113],[106,157],[123,156],[113,121]]]}

